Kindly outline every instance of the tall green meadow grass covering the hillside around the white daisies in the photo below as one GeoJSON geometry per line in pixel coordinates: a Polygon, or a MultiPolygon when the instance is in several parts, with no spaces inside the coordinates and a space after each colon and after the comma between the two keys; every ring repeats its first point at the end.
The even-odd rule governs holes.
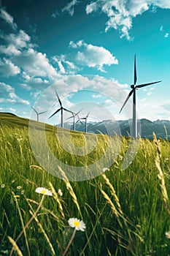
{"type": "MultiPolygon", "coordinates": [[[[35,121],[34,127],[41,132],[43,124],[35,121]]],[[[98,135],[90,154],[75,157],[63,150],[55,127],[45,129],[51,151],[68,165],[93,164],[108,143],[117,141],[98,135]]],[[[67,138],[68,131],[60,133],[67,138]]],[[[72,141],[81,147],[85,136],[72,132],[72,141]]],[[[106,172],[69,181],[64,173],[63,179],[57,178],[39,165],[29,143],[28,119],[0,113],[0,255],[63,255],[74,232],[68,224],[72,217],[82,219],[86,228],[75,233],[66,255],[170,255],[170,143],[140,139],[134,161],[121,170],[128,143],[121,138],[115,162],[106,172]],[[34,216],[42,200],[37,187],[50,189],[53,196],[43,196],[34,216]]]]}

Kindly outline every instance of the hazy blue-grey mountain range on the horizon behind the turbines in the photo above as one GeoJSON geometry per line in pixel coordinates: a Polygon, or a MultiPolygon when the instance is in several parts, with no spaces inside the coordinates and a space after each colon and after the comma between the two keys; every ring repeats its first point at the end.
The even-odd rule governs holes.
{"type": "MultiPolygon", "coordinates": [[[[170,121],[169,120],[156,120],[150,121],[145,118],[142,118],[138,121],[139,134],[142,138],[152,138],[153,132],[157,138],[168,138],[170,140],[170,121]]],[[[100,122],[89,122],[88,123],[88,132],[92,133],[102,133],[109,135],[130,135],[130,127],[132,125],[132,120],[123,120],[123,121],[114,121],[114,120],[104,120],[100,122]]],[[[73,129],[72,124],[69,122],[64,123],[64,128],[73,129]]],[[[85,131],[85,122],[82,124],[79,122],[76,124],[76,130],[84,132],[85,131]]]]}

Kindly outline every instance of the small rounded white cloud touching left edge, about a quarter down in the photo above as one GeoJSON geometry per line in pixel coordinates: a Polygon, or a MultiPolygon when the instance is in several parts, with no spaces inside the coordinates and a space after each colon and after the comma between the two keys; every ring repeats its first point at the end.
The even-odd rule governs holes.
{"type": "Polygon", "coordinates": [[[13,75],[18,75],[20,73],[20,68],[12,63],[9,59],[0,60],[0,73],[4,77],[9,77],[13,75]]]}

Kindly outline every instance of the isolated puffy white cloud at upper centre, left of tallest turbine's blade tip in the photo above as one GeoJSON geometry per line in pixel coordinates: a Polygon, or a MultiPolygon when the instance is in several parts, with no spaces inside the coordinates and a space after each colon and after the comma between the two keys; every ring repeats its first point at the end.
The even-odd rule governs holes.
{"type": "Polygon", "coordinates": [[[109,50],[85,43],[83,40],[78,42],[69,42],[69,46],[77,49],[75,61],[77,64],[88,67],[96,67],[101,72],[104,72],[104,65],[118,64],[115,56],[109,50]]]}

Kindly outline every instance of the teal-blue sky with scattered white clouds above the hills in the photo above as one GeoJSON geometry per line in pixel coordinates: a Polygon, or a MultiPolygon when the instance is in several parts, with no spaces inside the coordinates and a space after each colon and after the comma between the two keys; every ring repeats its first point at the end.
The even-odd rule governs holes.
{"type": "MultiPolygon", "coordinates": [[[[170,120],[169,0],[0,0],[0,111],[58,124],[60,105],[90,121],[170,120]]],[[[70,113],[64,111],[64,121],[70,113]]]]}

